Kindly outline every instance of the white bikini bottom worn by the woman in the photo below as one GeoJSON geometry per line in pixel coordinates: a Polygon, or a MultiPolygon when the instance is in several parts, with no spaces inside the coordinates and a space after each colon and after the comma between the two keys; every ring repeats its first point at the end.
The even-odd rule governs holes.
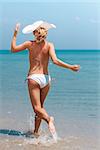
{"type": "Polygon", "coordinates": [[[51,82],[51,77],[47,74],[32,74],[29,75],[27,79],[32,79],[36,81],[40,85],[40,88],[44,88],[51,82]]]}

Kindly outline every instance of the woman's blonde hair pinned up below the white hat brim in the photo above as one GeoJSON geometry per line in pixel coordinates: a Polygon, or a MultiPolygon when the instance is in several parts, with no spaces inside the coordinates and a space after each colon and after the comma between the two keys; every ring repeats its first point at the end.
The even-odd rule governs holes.
{"type": "Polygon", "coordinates": [[[35,38],[36,38],[36,42],[40,43],[43,40],[46,39],[47,37],[47,30],[43,27],[39,27],[38,29],[36,29],[34,32],[35,38]],[[36,34],[37,33],[37,34],[36,34]]]}

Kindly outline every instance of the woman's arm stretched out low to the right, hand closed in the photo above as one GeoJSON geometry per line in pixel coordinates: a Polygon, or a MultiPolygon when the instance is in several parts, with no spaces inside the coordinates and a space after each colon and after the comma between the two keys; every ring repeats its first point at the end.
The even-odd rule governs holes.
{"type": "Polygon", "coordinates": [[[78,71],[80,69],[79,65],[70,65],[67,63],[64,63],[63,61],[61,61],[60,59],[57,58],[55,50],[54,50],[54,45],[52,43],[49,43],[49,55],[53,61],[54,64],[67,68],[67,69],[71,69],[73,71],[78,71]]]}

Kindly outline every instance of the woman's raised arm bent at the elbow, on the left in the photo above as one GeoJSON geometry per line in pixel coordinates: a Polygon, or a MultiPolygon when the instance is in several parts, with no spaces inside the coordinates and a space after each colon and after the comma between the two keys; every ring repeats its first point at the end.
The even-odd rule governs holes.
{"type": "Polygon", "coordinates": [[[17,38],[18,31],[19,31],[19,27],[20,25],[16,24],[14,35],[11,41],[11,52],[19,52],[19,51],[25,50],[26,48],[28,48],[29,43],[30,43],[30,41],[26,41],[18,46],[16,45],[16,38],[17,38]]]}

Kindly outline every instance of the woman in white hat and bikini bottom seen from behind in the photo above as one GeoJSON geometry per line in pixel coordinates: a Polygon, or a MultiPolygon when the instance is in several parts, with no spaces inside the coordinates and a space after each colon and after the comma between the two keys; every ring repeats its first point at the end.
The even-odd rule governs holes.
{"type": "Polygon", "coordinates": [[[52,59],[54,64],[72,71],[78,71],[80,68],[79,65],[70,65],[57,58],[53,43],[46,41],[47,31],[50,28],[55,28],[55,25],[44,21],[37,21],[32,25],[28,25],[23,29],[23,33],[27,34],[32,32],[35,40],[16,45],[16,38],[19,31],[19,24],[16,24],[11,42],[12,52],[19,52],[25,49],[29,50],[30,68],[27,80],[30,100],[35,112],[35,134],[38,134],[42,119],[47,122],[50,132],[55,133],[54,119],[48,115],[43,105],[51,81],[48,72],[49,58],[52,59]]]}

